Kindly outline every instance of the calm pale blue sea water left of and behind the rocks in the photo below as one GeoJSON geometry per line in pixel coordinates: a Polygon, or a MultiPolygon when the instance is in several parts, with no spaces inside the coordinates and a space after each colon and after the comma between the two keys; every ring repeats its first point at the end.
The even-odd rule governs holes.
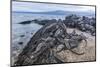
{"type": "Polygon", "coordinates": [[[12,39],[15,40],[20,35],[28,35],[28,33],[35,33],[42,25],[31,24],[18,24],[22,21],[34,20],[34,19],[64,19],[65,16],[57,15],[43,15],[43,14],[28,14],[28,13],[12,13],[12,39]]]}

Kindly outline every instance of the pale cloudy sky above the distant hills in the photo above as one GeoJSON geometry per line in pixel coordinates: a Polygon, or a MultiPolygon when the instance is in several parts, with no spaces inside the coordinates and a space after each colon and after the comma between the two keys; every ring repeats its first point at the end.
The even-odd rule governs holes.
{"type": "Polygon", "coordinates": [[[93,6],[79,6],[79,5],[62,5],[62,4],[46,4],[33,2],[12,2],[12,11],[21,12],[46,12],[46,11],[76,11],[76,12],[95,12],[93,6]]]}

